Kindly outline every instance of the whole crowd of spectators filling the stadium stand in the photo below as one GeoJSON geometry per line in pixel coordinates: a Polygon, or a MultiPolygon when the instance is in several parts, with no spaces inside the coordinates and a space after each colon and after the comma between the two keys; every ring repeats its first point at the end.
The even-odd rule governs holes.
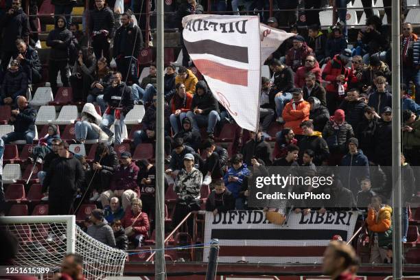
{"type": "MultiPolygon", "coordinates": [[[[32,20],[23,12],[21,0],[0,3],[3,2],[7,3],[0,14],[0,104],[13,108],[9,124],[14,125],[14,131],[1,138],[1,153],[4,145],[12,141],[34,143],[37,109],[27,102],[26,96],[28,89],[39,86],[42,78],[36,38],[30,33],[32,20]]],[[[367,4],[371,1],[362,1],[369,16],[352,47],[348,45],[349,32],[342,10],[338,10],[338,24],[321,30],[316,9],[321,8],[322,1],[306,0],[308,27],[298,28],[298,1],[275,1],[277,8],[289,11],[270,18],[261,13],[261,20],[271,27],[290,26],[287,31],[296,35],[266,61],[272,76],[261,78],[259,131],[249,132],[235,125],[206,81],[198,80],[189,69],[192,62],[182,38],[182,65],[165,66],[163,93],[156,92],[159,69],[155,65],[150,65],[150,73],[139,80],[137,58],[144,47],[143,30],[133,21],[130,10],[121,16],[114,14],[111,2],[115,1],[93,3],[85,23],[90,34],[79,30],[71,16],[57,15],[54,30],[47,36],[48,79],[54,96],[58,94],[60,72],[62,86],[71,87],[73,102],[82,104],[71,143],[100,141],[93,162],[88,163],[84,156],[69,152],[69,143],[60,139],[57,126],[49,125],[47,135],[41,135],[30,161],[43,163],[38,178],[46,194],[43,200],[49,205],[49,215],[72,213],[81,202],[97,203],[100,209],[85,221],[89,235],[121,249],[127,249],[128,242],[141,246],[154,227],[149,217],[156,207],[156,168],[151,159],[136,162],[129,151],[117,156],[113,147],[123,143],[124,119],[135,105],[144,106],[145,115],[141,129],[132,134],[131,150],[142,143],[155,147],[156,99],[157,94],[163,94],[165,189],[172,188],[177,198],[172,229],[187,213],[201,209],[202,185],[211,190],[202,209],[216,215],[231,209],[248,209],[248,182],[270,166],[303,165],[312,167],[314,172],[329,165],[366,167],[366,173],[358,174],[355,183],[335,178],[334,185],[326,190],[336,199],[331,205],[294,211],[305,215],[310,211],[323,212],[343,205],[342,201],[349,208],[363,205],[368,228],[378,237],[372,261],[382,262],[386,255],[383,246],[388,246],[392,231],[392,209],[386,205],[392,192],[391,98],[392,94],[399,94],[406,206],[402,241],[406,242],[408,205],[420,191],[412,170],[420,165],[420,39],[410,23],[402,25],[401,91],[391,93],[389,32],[371,12],[367,4]],[[110,130],[113,124],[114,132],[110,130]],[[224,129],[235,130],[227,147],[219,138],[224,129]]],[[[130,2],[124,1],[126,9],[132,8],[130,2]]],[[[237,14],[240,1],[231,2],[232,12],[237,14]]],[[[345,2],[348,1],[331,4],[342,8],[345,2]]],[[[386,2],[384,5],[389,6],[386,2]]],[[[75,1],[51,3],[56,14],[68,15],[75,1]]],[[[268,1],[242,3],[246,10],[259,10],[267,8],[268,1]]],[[[226,0],[213,1],[211,10],[227,10],[226,0]]],[[[390,13],[390,9],[385,11],[390,13]]],[[[205,8],[195,0],[182,1],[176,26],[181,30],[183,16],[204,12],[205,8]]],[[[3,191],[0,194],[4,202],[3,191]]]]}

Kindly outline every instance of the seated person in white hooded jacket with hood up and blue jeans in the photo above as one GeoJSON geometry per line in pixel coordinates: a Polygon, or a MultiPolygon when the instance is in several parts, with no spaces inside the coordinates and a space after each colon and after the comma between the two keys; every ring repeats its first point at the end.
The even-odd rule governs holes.
{"type": "Polygon", "coordinates": [[[108,135],[100,128],[99,124],[101,121],[102,117],[96,112],[95,106],[91,103],[84,104],[82,119],[74,125],[76,141],[78,143],[84,143],[86,139],[106,141],[108,135]]]}

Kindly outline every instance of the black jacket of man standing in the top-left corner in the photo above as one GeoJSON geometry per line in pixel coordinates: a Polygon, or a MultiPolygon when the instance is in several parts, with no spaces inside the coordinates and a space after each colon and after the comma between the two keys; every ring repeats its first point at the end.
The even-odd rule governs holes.
{"type": "Polygon", "coordinates": [[[3,30],[3,51],[16,51],[16,39],[30,34],[29,19],[22,8],[14,14],[6,12],[0,20],[0,30],[3,30]]]}

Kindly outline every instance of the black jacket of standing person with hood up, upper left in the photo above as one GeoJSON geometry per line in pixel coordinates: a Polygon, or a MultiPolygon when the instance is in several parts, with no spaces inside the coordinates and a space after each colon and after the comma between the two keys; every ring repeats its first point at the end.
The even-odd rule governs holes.
{"type": "Polygon", "coordinates": [[[67,21],[64,16],[58,16],[56,19],[55,29],[49,32],[47,37],[47,46],[51,47],[49,52],[50,60],[69,60],[69,49],[71,45],[70,30],[66,27],[67,21]],[[57,25],[58,19],[65,21],[64,27],[59,28],[57,25]]]}

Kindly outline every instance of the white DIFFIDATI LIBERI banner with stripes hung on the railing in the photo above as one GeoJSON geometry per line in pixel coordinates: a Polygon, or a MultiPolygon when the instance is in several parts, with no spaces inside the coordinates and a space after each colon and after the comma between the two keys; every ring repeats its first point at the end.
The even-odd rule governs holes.
{"type": "MultiPolygon", "coordinates": [[[[351,238],[357,218],[355,211],[290,213],[287,224],[279,226],[270,224],[263,211],[229,211],[215,216],[207,212],[205,244],[219,240],[222,262],[320,263],[334,235],[344,241],[351,238]]],[[[208,258],[206,246],[203,261],[208,258]]]]}

